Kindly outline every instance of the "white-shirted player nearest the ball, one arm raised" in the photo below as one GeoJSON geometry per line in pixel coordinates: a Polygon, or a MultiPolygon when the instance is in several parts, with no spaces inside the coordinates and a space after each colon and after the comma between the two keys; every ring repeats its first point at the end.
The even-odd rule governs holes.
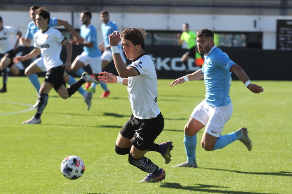
{"type": "Polygon", "coordinates": [[[145,54],[146,31],[127,28],[122,34],[115,31],[109,35],[114,65],[119,76],[100,72],[99,81],[104,83],[122,83],[127,87],[133,114],[122,127],[116,141],[117,154],[128,154],[131,165],[149,174],[140,182],[157,182],[165,179],[165,171],[144,155],[148,151],[159,152],[170,161],[172,142],[154,143],[164,128],[164,118],[157,105],[157,76],[152,58],[145,54]],[[132,60],[127,67],[120,55],[117,45],[121,40],[126,57],[132,60]],[[128,78],[125,78],[128,77],[128,78]]]}

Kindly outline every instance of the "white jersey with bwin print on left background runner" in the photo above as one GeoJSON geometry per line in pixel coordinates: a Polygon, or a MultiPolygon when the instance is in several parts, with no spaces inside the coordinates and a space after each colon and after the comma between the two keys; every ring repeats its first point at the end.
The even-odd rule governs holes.
{"type": "Polygon", "coordinates": [[[41,50],[47,71],[53,67],[63,65],[60,53],[64,40],[65,37],[62,33],[51,27],[45,32],[39,30],[34,34],[34,47],[41,50]]]}

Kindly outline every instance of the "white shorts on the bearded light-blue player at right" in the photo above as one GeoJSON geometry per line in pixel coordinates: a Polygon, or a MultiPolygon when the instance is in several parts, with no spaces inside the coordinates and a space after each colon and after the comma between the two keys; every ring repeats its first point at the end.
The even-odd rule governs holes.
{"type": "Polygon", "coordinates": [[[227,106],[208,105],[206,99],[196,106],[191,116],[206,126],[205,131],[215,137],[219,137],[224,125],[231,118],[232,103],[227,106]]]}

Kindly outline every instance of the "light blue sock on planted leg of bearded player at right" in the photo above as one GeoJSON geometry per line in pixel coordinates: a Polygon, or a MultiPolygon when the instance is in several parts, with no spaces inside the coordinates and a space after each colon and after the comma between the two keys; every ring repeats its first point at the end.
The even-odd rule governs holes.
{"type": "Polygon", "coordinates": [[[197,134],[194,136],[185,135],[183,140],[185,144],[185,152],[187,153],[187,163],[189,165],[196,164],[196,146],[197,146],[197,134]]]}

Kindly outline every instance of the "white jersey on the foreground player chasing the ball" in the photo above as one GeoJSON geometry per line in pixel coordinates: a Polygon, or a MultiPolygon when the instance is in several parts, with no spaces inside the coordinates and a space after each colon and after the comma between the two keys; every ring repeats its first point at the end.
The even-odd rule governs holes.
{"type": "Polygon", "coordinates": [[[155,118],[160,113],[157,105],[157,75],[152,58],[143,55],[132,62],[139,75],[128,77],[129,100],[133,115],[139,119],[155,118]]]}

